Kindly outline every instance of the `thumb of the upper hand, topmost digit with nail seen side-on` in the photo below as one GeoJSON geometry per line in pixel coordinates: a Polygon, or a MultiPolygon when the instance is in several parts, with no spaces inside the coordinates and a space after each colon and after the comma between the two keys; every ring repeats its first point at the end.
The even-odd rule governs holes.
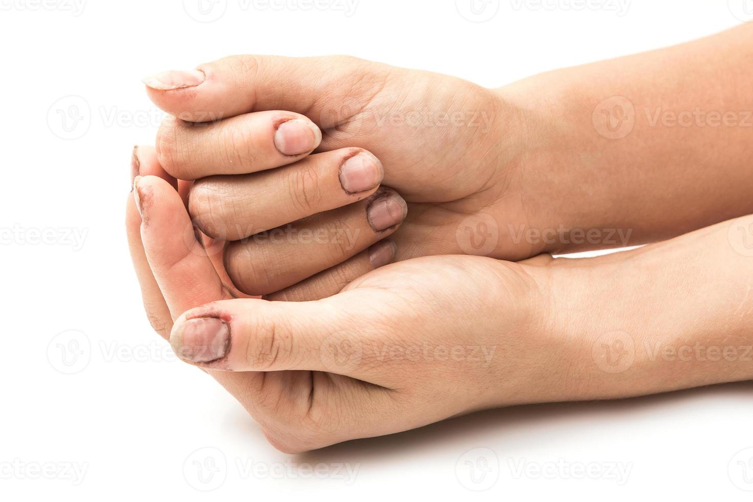
{"type": "Polygon", "coordinates": [[[290,110],[329,128],[358,113],[395,71],[349,56],[229,56],[192,71],[144,79],[149,98],[169,114],[206,122],[261,110],[290,110]],[[348,110],[350,110],[348,112],[348,110]],[[329,120],[327,117],[330,117],[329,120]]]}

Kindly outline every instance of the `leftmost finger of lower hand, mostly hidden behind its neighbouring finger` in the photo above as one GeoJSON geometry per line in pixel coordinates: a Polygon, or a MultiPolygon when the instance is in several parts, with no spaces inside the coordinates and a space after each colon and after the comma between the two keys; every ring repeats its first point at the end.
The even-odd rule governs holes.
{"type": "MultiPolygon", "coordinates": [[[[131,190],[133,190],[133,180],[139,175],[159,176],[169,184],[175,184],[175,178],[169,176],[160,167],[157,162],[157,154],[154,148],[139,147],[133,148],[131,154],[131,190]]],[[[141,216],[136,208],[136,202],[133,196],[128,196],[126,203],[126,235],[128,239],[128,248],[133,261],[133,268],[136,270],[136,278],[142,291],[142,301],[144,309],[149,320],[149,324],[164,339],[167,339],[172,328],[172,318],[167,308],[165,299],[160,291],[160,286],[154,280],[151,273],[151,267],[144,252],[144,245],[141,239],[141,216]]]]}

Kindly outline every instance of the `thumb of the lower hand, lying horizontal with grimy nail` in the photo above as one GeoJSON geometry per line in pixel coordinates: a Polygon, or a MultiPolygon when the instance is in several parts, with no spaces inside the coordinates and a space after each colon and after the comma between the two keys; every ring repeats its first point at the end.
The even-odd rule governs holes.
{"type": "Polygon", "coordinates": [[[312,370],[361,378],[368,336],[328,300],[236,299],[184,312],[170,345],[184,361],[212,370],[312,370]]]}

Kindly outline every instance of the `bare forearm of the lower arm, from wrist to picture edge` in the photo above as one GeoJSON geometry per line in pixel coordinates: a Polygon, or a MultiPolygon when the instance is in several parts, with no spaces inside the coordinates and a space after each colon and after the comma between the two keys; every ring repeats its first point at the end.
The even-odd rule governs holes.
{"type": "Polygon", "coordinates": [[[550,266],[568,399],[753,379],[753,217],[550,266]]]}

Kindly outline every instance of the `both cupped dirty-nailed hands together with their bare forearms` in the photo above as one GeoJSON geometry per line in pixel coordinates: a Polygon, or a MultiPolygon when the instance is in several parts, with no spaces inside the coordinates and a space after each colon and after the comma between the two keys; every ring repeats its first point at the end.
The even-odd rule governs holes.
{"type": "MultiPolygon", "coordinates": [[[[717,37],[705,43],[751,38],[717,37]]],[[[636,117],[615,140],[592,120],[620,91],[648,103],[687,79],[715,88],[715,66],[748,67],[730,47],[684,76],[704,53],[688,46],[623,59],[622,80],[593,78],[605,62],[498,90],[343,56],[231,56],[146,78],[168,116],[156,148],[134,148],[127,233],[152,326],[285,452],[498,406],[751,378],[703,361],[678,375],[642,351],[652,337],[709,339],[715,315],[748,308],[735,294],[751,259],[719,223],[753,211],[736,195],[750,186],[747,136],[636,117]],[[676,75],[651,81],[668,60],[676,75]],[[724,148],[704,151],[712,140],[724,148]],[[694,296],[720,281],[714,300],[694,296]],[[628,367],[617,342],[633,344],[628,367]]],[[[718,334],[739,336],[730,323],[718,334]]]]}

